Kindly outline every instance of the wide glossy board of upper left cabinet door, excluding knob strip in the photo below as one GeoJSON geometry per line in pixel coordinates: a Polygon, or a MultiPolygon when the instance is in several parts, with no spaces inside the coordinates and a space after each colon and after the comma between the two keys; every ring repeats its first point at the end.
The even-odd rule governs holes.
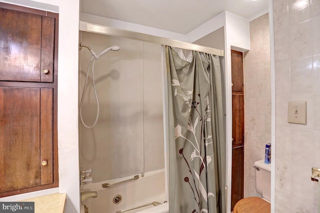
{"type": "Polygon", "coordinates": [[[0,80],[40,80],[41,15],[0,8],[0,43],[0,80]]]}

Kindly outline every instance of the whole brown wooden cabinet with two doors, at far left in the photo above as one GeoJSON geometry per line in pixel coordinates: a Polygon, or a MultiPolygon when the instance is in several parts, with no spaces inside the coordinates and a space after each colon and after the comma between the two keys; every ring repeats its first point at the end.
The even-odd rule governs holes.
{"type": "Polygon", "coordinates": [[[0,2],[0,197],[58,185],[57,18],[0,2]]]}

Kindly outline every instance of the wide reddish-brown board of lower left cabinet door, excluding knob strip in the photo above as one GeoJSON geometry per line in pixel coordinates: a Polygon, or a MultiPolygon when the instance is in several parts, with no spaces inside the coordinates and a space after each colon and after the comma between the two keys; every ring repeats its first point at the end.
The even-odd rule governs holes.
{"type": "Polygon", "coordinates": [[[40,89],[0,87],[0,191],[39,185],[40,89]]]}

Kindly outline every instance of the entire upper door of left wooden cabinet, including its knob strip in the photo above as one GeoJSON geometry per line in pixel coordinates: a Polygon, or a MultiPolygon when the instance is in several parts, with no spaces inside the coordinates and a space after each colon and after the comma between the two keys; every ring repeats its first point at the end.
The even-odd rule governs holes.
{"type": "Polygon", "coordinates": [[[53,82],[54,21],[0,8],[0,80],[53,82]]]}

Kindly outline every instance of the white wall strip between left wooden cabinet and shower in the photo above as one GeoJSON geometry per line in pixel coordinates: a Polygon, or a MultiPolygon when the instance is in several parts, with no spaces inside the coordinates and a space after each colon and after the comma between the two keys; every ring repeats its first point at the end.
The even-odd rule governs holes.
{"type": "MultiPolygon", "coordinates": [[[[79,212],[78,162],[78,24],[79,0],[1,0],[59,12],[58,158],[60,193],[67,193],[65,212],[79,212]],[[49,5],[48,5],[49,4],[49,5]],[[58,11],[57,11],[58,10],[58,11]]],[[[54,190],[24,194],[33,197],[54,190]]],[[[21,196],[12,196],[17,200],[21,196]]],[[[7,197],[6,199],[10,199],[7,197]]]]}

